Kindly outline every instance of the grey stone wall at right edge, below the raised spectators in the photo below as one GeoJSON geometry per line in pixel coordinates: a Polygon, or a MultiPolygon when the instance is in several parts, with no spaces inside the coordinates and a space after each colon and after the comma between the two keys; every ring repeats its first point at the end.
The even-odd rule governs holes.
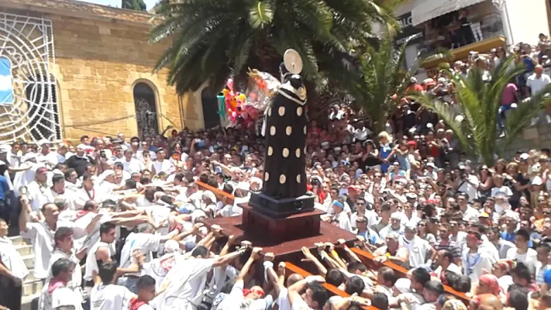
{"type": "Polygon", "coordinates": [[[504,158],[512,158],[517,151],[528,152],[530,149],[551,148],[551,125],[540,120],[535,127],[528,127],[519,134],[506,149],[504,158]]]}

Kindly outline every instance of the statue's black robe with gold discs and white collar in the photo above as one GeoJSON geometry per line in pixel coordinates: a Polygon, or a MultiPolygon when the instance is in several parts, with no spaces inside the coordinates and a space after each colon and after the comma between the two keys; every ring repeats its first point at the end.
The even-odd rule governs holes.
{"type": "Polygon", "coordinates": [[[306,194],[306,88],[298,74],[288,76],[266,116],[262,193],[276,199],[306,194]]]}

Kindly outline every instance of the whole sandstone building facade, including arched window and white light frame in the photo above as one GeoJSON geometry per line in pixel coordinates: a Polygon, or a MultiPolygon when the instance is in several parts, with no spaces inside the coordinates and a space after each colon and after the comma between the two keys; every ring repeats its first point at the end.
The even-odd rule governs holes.
{"type": "Polygon", "coordinates": [[[166,69],[153,73],[170,42],[147,42],[151,14],[73,0],[3,0],[0,14],[14,95],[0,92],[0,142],[204,127],[200,92],[179,96],[166,69]]]}

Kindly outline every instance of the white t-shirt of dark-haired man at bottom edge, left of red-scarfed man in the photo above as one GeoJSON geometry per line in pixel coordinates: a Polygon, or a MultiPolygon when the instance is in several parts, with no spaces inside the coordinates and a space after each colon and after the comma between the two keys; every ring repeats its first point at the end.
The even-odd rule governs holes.
{"type": "Polygon", "coordinates": [[[100,283],[90,291],[90,310],[127,310],[136,295],[121,285],[100,283]]]}

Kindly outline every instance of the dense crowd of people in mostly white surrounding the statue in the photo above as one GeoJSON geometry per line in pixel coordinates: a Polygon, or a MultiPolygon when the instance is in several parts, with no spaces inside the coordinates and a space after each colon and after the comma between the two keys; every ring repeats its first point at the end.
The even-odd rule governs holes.
{"type": "MultiPolygon", "coordinates": [[[[489,62],[473,54],[472,64],[502,54],[489,62]]],[[[541,90],[540,69],[526,74],[531,94],[541,90]]],[[[410,87],[454,104],[438,81],[412,79],[410,87]]],[[[373,132],[366,114],[335,105],[306,130],[315,207],[357,236],[354,245],[305,245],[303,263],[318,269],[306,278],[285,277],[273,254],[203,224],[240,216],[238,204],[262,189],[267,149],[254,128],[0,145],[0,309],[21,307],[30,277],[8,238],[19,234],[34,249],[32,277],[44,284],[40,310],[551,309],[549,149],[488,167],[408,98],[384,132],[373,132]],[[408,277],[368,269],[352,246],[377,264],[406,267],[408,277]],[[330,298],[324,282],[351,297],[330,298]],[[468,293],[470,304],[444,285],[468,293]]]]}

